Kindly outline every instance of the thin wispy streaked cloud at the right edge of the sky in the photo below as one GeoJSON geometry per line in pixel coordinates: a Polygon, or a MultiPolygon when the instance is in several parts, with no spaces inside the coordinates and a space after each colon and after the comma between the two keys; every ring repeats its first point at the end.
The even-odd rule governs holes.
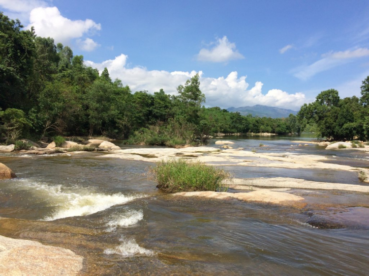
{"type": "Polygon", "coordinates": [[[342,52],[330,52],[322,55],[322,58],[308,66],[301,66],[292,70],[294,76],[300,80],[307,81],[314,75],[327,71],[331,68],[348,63],[355,58],[369,56],[369,49],[359,48],[342,52]]]}

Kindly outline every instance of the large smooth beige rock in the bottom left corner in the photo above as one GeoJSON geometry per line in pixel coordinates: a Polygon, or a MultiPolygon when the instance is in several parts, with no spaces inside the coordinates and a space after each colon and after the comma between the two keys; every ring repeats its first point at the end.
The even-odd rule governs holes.
{"type": "Polygon", "coordinates": [[[1,276],[74,276],[83,267],[83,257],[65,248],[0,236],[1,276]]]}

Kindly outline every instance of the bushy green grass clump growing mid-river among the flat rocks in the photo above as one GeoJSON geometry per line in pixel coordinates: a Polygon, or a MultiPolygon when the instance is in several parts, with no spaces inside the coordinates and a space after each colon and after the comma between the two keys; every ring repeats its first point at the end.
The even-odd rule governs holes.
{"type": "Polygon", "coordinates": [[[160,161],[149,168],[149,179],[156,181],[157,188],[167,193],[190,191],[225,192],[224,184],[230,173],[214,166],[185,159],[160,161]]]}

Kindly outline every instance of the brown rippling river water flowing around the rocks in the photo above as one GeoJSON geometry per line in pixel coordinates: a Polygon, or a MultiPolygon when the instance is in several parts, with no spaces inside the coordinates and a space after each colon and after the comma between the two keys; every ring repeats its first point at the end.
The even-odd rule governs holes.
{"type": "MultiPolygon", "coordinates": [[[[223,139],[245,150],[319,154],[336,164],[369,166],[368,153],[291,146],[293,139],[310,137],[223,139]]],[[[369,275],[369,194],[337,192],[350,203],[343,200],[337,208],[320,211],[312,205],[298,209],[177,197],[147,180],[146,168],[154,164],[101,154],[109,153],[1,154],[0,162],[18,178],[0,181],[0,235],[71,249],[85,258],[84,276],[369,275]],[[319,216],[331,216],[339,227],[307,223],[319,216]]],[[[224,169],[235,177],[362,184],[357,173],[342,171],[224,169]]]]}

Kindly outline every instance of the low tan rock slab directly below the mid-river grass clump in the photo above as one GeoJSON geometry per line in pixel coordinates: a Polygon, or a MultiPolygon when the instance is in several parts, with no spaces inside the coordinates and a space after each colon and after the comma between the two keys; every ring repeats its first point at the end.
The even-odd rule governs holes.
{"type": "Polygon", "coordinates": [[[228,197],[237,198],[240,200],[248,201],[248,202],[262,202],[262,203],[270,203],[277,205],[293,205],[295,201],[304,200],[304,197],[294,195],[291,193],[281,193],[270,191],[268,189],[261,189],[258,191],[253,191],[249,193],[226,193],[226,192],[182,192],[175,193],[174,195],[182,195],[182,196],[203,196],[203,197],[211,197],[224,199],[228,197]]]}

